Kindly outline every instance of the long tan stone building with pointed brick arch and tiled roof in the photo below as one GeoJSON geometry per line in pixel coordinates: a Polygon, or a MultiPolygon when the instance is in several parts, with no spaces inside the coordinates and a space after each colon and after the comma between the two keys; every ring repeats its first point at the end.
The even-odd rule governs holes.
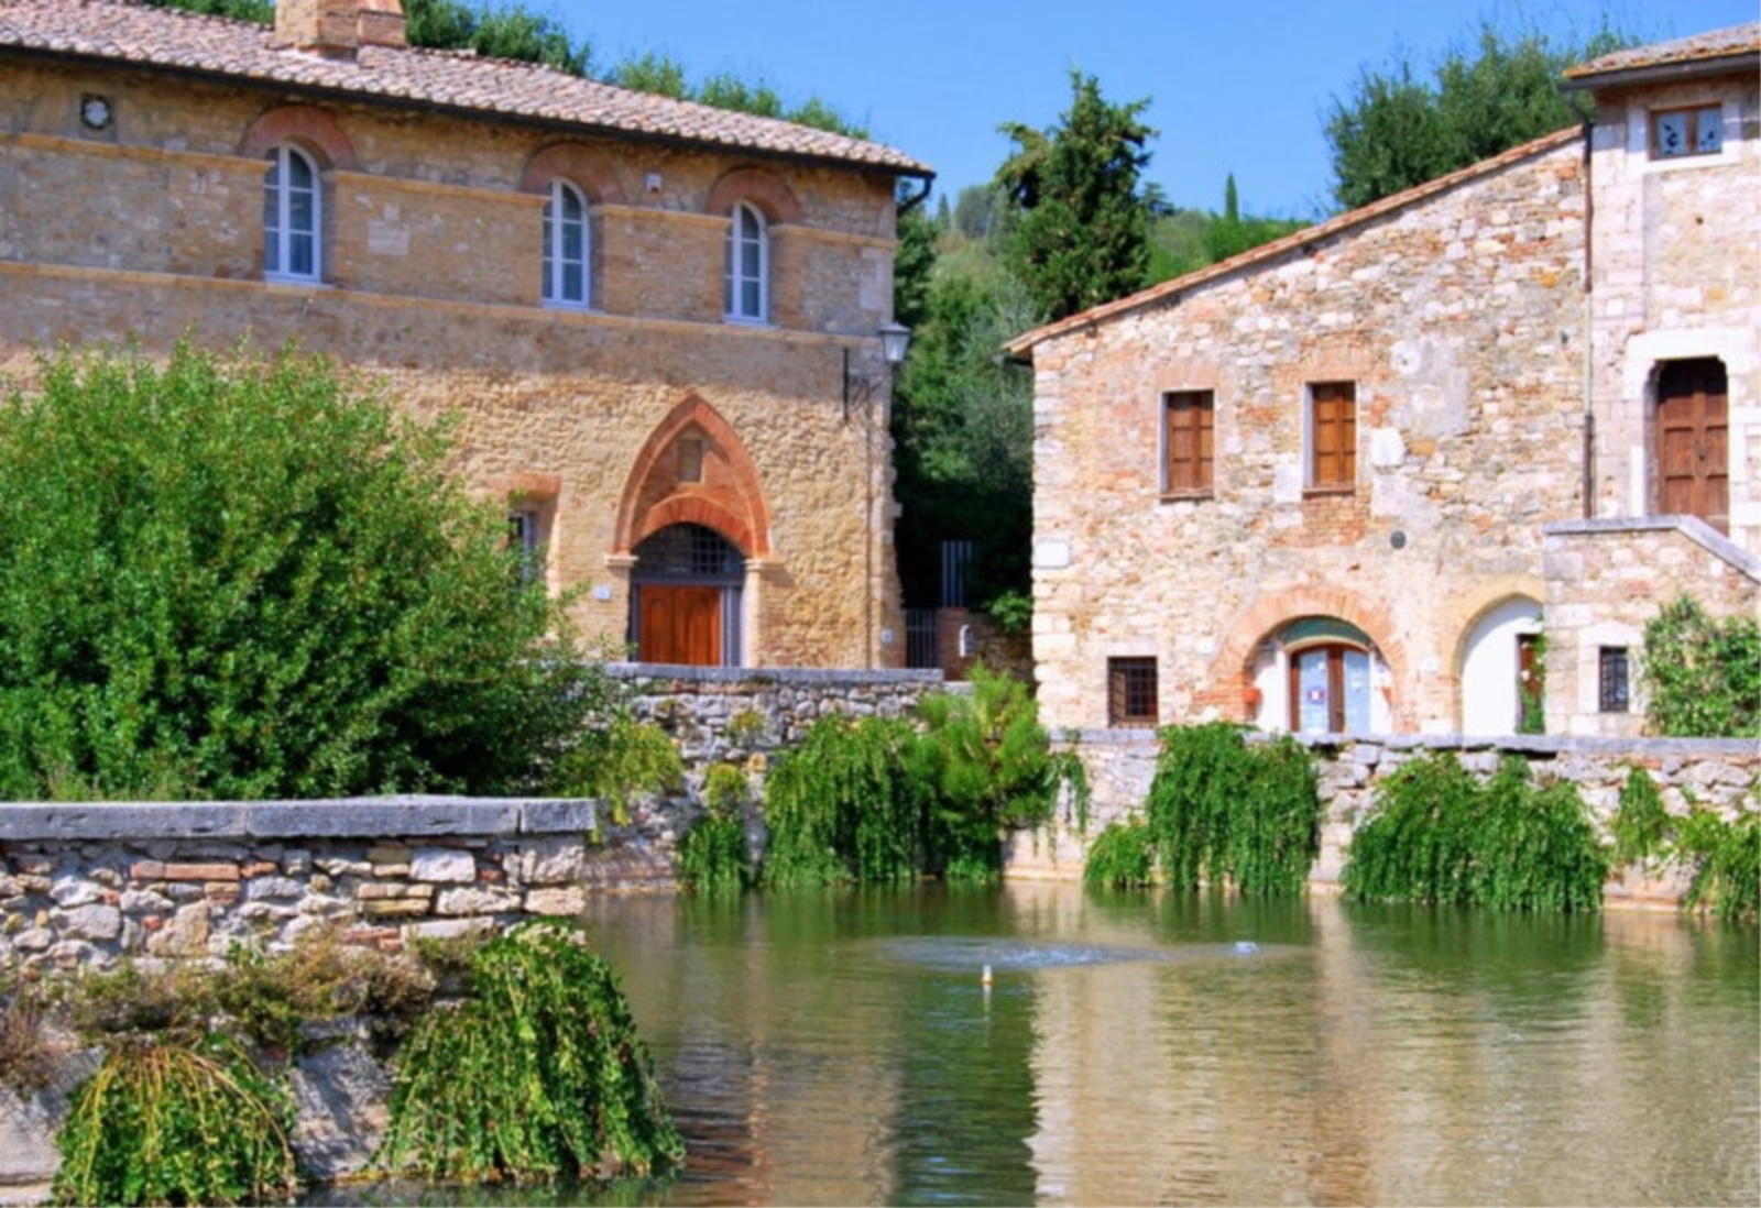
{"type": "Polygon", "coordinates": [[[298,340],[507,500],[650,662],[900,666],[886,435],[907,155],[412,49],[396,0],[276,26],[0,0],[0,373],[58,343],[298,340]]]}

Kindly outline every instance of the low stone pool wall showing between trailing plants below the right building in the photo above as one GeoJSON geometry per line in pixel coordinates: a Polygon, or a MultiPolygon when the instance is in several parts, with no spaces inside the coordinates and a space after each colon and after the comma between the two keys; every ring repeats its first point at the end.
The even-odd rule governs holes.
{"type": "MultiPolygon", "coordinates": [[[[1317,891],[1337,891],[1345,849],[1367,817],[1377,787],[1400,764],[1426,752],[1449,752],[1469,771],[1488,777],[1506,755],[1529,764],[1537,782],[1566,780],[1578,789],[1595,824],[1606,831],[1620,805],[1620,787],[1629,768],[1645,768],[1657,784],[1664,808],[1685,814],[1689,801],[1726,815],[1761,810],[1761,747],[1752,740],[1689,738],[1500,738],[1479,740],[1455,734],[1389,734],[1349,738],[1342,734],[1298,736],[1315,757],[1321,799],[1321,858],[1308,877],[1317,891]]],[[[1094,787],[1088,835],[1111,821],[1141,814],[1155,778],[1159,743],[1150,731],[1087,731],[1074,741],[1094,787]]],[[[1074,879],[1083,870],[1083,836],[1060,828],[1051,836],[1011,838],[1007,875],[1074,879]]],[[[1669,903],[1685,884],[1664,877],[1657,882],[1617,873],[1604,888],[1610,902],[1669,903]]]]}

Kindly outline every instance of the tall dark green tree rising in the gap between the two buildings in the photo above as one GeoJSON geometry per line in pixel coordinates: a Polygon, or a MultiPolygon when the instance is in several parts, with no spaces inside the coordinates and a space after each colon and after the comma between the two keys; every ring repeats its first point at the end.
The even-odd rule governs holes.
{"type": "Polygon", "coordinates": [[[1016,150],[997,181],[1020,220],[1009,259],[1044,319],[1064,319],[1145,285],[1148,215],[1138,174],[1155,130],[1148,100],[1109,104],[1094,76],[1071,72],[1071,107],[1058,125],[1007,123],[1016,150]]]}

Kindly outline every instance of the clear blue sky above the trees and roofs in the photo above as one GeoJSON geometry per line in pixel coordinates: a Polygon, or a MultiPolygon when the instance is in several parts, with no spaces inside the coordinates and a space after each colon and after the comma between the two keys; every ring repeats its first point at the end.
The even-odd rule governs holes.
{"type": "Polygon", "coordinates": [[[1756,0],[537,0],[604,67],[666,51],[701,77],[763,77],[821,95],[937,171],[949,199],[1009,153],[1004,122],[1046,127],[1069,70],[1109,100],[1150,97],[1148,178],[1180,206],[1308,218],[1331,210],[1323,114],[1365,63],[1430,63],[1481,18],[1587,35],[1606,12],[1645,41],[1754,21],[1756,0]]]}

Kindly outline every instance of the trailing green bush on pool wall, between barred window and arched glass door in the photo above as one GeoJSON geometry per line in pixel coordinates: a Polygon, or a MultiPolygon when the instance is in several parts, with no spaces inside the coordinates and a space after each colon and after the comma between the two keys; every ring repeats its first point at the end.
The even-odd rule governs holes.
{"type": "Polygon", "coordinates": [[[1240,726],[1171,726],[1150,784],[1148,828],[1173,886],[1233,880],[1301,893],[1321,851],[1314,766],[1289,736],[1249,747],[1240,726]]]}

